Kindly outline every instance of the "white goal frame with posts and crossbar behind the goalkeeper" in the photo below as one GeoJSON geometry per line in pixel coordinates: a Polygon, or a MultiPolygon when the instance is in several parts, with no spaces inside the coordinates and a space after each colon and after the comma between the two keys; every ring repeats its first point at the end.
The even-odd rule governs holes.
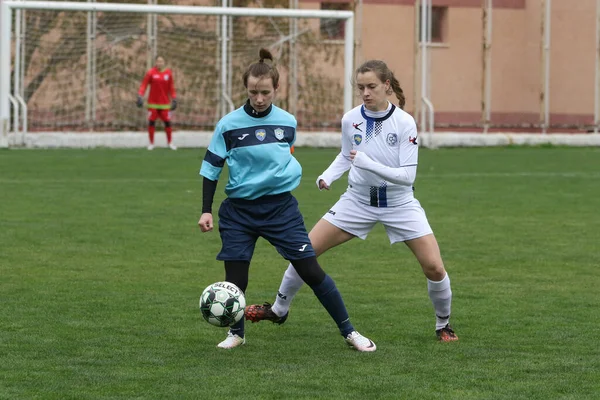
{"type": "MultiPolygon", "coordinates": [[[[13,121],[13,130],[19,125],[17,116],[23,115],[21,121],[21,132],[23,127],[27,127],[27,101],[23,101],[18,91],[19,76],[13,68],[23,68],[19,65],[18,45],[19,34],[13,34],[14,24],[19,24],[19,19],[15,18],[17,11],[32,10],[56,11],[56,12],[95,12],[95,13],[134,13],[146,15],[176,15],[181,16],[214,16],[220,17],[264,17],[264,18],[289,18],[292,20],[315,19],[319,21],[336,20],[343,23],[343,37],[340,38],[340,46],[343,45],[343,111],[350,110],[353,106],[353,88],[351,85],[354,69],[354,12],[352,11],[334,11],[334,10],[310,10],[310,9],[285,9],[285,8],[239,8],[239,7],[207,7],[207,6],[178,6],[178,5],[156,5],[156,4],[119,4],[119,3],[95,3],[95,2],[55,2],[55,1],[3,1],[0,3],[0,147],[8,146],[8,133],[13,121]],[[17,36],[17,38],[15,38],[17,36]],[[343,42],[342,42],[343,41],[343,42]],[[17,54],[13,54],[13,52],[17,54]],[[14,74],[14,77],[11,76],[14,74]],[[11,110],[12,106],[12,110],[11,110]],[[12,112],[11,112],[12,111],[12,112]],[[12,114],[12,115],[11,115],[12,114]]],[[[29,12],[29,11],[28,11],[29,12]]],[[[182,17],[183,18],[183,17],[182,17]]],[[[29,29],[29,28],[28,28],[29,29]]],[[[317,23],[317,31],[318,31],[317,23]]],[[[28,30],[29,34],[29,30],[28,30]]],[[[251,39],[250,39],[251,40],[251,39]]],[[[285,40],[285,39],[284,39],[285,40]]],[[[340,47],[341,48],[341,47],[340,47]]],[[[342,51],[340,51],[342,52],[342,51]]],[[[256,56],[258,52],[256,51],[256,56]]],[[[253,58],[246,60],[248,63],[253,58]]],[[[200,67],[202,64],[200,64],[200,67]]],[[[342,74],[338,74],[338,79],[342,74]]],[[[21,78],[20,84],[23,85],[24,79],[21,78]]],[[[140,77],[141,80],[141,77],[140,77]]],[[[219,82],[220,84],[221,82],[219,82]]],[[[231,85],[231,83],[229,83],[231,85]]],[[[59,86],[60,87],[60,86],[59,86]]],[[[135,92],[137,87],[133,88],[135,92]]],[[[22,89],[21,89],[22,90],[22,89]]],[[[340,93],[341,94],[341,93],[340,93]]],[[[231,106],[231,101],[229,105],[231,106]]],[[[239,105],[239,104],[238,104],[239,105]]],[[[341,104],[340,104],[341,105],[341,104]]],[[[341,107],[340,107],[341,109],[341,107]]],[[[341,115],[336,115],[339,120],[341,115]]],[[[81,135],[90,132],[81,133],[81,135]]],[[[24,143],[21,143],[24,144],[24,143]]]]}

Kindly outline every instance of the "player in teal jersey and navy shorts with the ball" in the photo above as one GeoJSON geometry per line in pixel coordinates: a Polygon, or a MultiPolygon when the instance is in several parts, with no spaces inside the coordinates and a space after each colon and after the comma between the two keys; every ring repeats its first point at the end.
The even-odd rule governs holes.
{"type": "MultiPolygon", "coordinates": [[[[348,316],[346,305],[333,279],[317,261],[304,217],[292,191],[300,184],[302,168],[292,156],[296,140],[296,119],[273,105],[279,88],[279,72],[270,62],[268,50],[260,50],[260,60],[251,64],[243,76],[248,101],[223,117],[215,128],[206,151],[200,175],[202,232],[214,228],[212,203],[221,171],[227,162],[227,198],[219,206],[221,251],[225,281],[244,294],[258,238],[264,238],[288,260],[300,279],[312,289],[319,302],[336,323],[346,342],[358,351],[377,348],[358,333],[348,316]]],[[[245,315],[246,319],[249,319],[245,315]]],[[[276,322],[281,324],[286,317],[276,322]]],[[[225,340],[217,347],[232,349],[246,343],[244,319],[230,326],[225,340]]]]}

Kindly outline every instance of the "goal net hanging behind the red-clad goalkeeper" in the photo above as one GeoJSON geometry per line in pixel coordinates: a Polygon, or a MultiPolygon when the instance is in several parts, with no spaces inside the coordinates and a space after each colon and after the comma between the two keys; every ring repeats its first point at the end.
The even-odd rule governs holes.
{"type": "Polygon", "coordinates": [[[246,100],[242,74],[261,47],[271,50],[281,75],[275,103],[296,115],[299,129],[334,130],[351,106],[349,11],[5,4],[3,21],[7,9],[13,17],[13,96],[0,101],[13,128],[20,121],[23,129],[13,118],[14,100],[22,99],[28,132],[143,131],[146,112],[136,107],[136,95],[162,56],[177,91],[174,126],[211,130],[246,100]]]}

